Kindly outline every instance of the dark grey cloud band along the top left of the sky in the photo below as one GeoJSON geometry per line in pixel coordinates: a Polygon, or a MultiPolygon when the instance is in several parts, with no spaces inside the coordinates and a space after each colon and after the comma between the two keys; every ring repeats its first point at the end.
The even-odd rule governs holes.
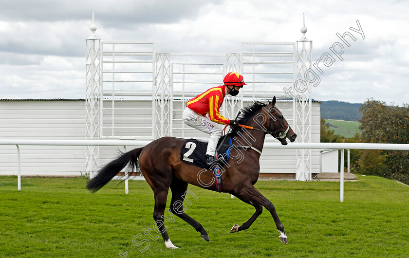
{"type": "Polygon", "coordinates": [[[61,21],[90,19],[92,11],[106,26],[126,23],[171,23],[194,18],[210,0],[0,0],[0,20],[61,21]],[[80,8],[78,6],[81,6],[80,8]],[[125,22],[124,22],[125,21],[125,22]]]}

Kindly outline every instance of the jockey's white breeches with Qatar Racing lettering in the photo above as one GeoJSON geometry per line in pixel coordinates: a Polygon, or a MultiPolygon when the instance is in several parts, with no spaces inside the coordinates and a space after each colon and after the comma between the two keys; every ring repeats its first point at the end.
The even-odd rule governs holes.
{"type": "Polygon", "coordinates": [[[220,129],[219,124],[213,122],[207,116],[196,113],[188,107],[183,111],[182,119],[186,125],[210,134],[206,155],[214,156],[217,142],[220,137],[222,137],[222,129],[220,129]]]}

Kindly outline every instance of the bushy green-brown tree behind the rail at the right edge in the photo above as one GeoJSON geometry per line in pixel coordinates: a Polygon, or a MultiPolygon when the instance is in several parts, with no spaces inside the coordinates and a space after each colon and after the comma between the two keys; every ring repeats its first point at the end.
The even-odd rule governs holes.
{"type": "MultiPolygon", "coordinates": [[[[409,105],[388,106],[367,100],[360,111],[360,138],[367,143],[409,143],[409,105]]],[[[361,172],[409,184],[409,151],[366,150],[358,162],[361,172]]]]}

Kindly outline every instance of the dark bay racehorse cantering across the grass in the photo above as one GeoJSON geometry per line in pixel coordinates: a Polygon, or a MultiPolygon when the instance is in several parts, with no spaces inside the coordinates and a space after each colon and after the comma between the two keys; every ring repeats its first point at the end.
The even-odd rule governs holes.
{"type": "MultiPolygon", "coordinates": [[[[254,187],[259,178],[260,154],[265,135],[267,133],[271,134],[282,145],[287,144],[286,138],[290,142],[294,142],[297,138],[297,135],[290,128],[275,104],[276,97],[268,104],[254,102],[253,105],[242,110],[238,122],[247,127],[238,127],[231,132],[234,136],[233,145],[242,147],[231,148],[230,150],[230,158],[222,167],[221,191],[230,193],[244,203],[251,204],[256,208],[253,216],[241,226],[234,225],[230,230],[231,233],[248,229],[260,216],[262,207],[265,207],[271,213],[280,232],[279,240],[286,244],[287,235],[273,203],[254,187]],[[246,147],[243,147],[243,145],[246,147]]],[[[88,182],[87,188],[92,192],[99,190],[127,165],[130,171],[139,168],[153,190],[155,198],[153,218],[165,240],[166,247],[177,248],[169,240],[164,224],[164,212],[169,188],[172,191],[170,212],[200,232],[202,239],[209,241],[209,236],[203,226],[184,212],[183,201],[188,184],[215,191],[214,174],[213,170],[201,170],[199,167],[181,161],[180,153],[185,141],[186,139],[163,137],[145,147],[126,152],[103,166],[98,174],[88,182]],[[204,184],[203,182],[211,183],[204,184]],[[177,205],[178,203],[179,205],[177,205]]]]}

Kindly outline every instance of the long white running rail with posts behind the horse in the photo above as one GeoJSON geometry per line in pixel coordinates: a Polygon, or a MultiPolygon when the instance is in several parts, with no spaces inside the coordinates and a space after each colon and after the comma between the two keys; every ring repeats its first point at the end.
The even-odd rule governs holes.
{"type": "MultiPolygon", "coordinates": [[[[127,141],[127,140],[0,140],[0,145],[16,145],[18,155],[18,190],[21,190],[20,171],[20,146],[145,146],[150,141],[127,141]]],[[[300,148],[300,149],[341,149],[340,162],[340,201],[344,202],[344,149],[384,149],[384,150],[409,150],[409,144],[381,144],[381,143],[264,143],[265,148],[300,148]]],[[[128,180],[125,180],[125,192],[128,193],[128,180]]]]}

